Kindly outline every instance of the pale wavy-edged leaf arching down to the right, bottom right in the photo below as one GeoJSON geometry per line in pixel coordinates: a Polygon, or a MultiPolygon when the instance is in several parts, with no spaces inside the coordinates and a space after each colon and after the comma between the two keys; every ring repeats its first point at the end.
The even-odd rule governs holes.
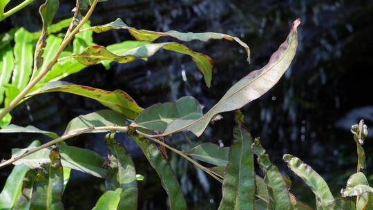
{"type": "Polygon", "coordinates": [[[287,162],[289,169],[302,178],[314,192],[317,209],[334,209],[334,197],[321,175],[293,155],[285,154],[283,160],[287,162]]]}

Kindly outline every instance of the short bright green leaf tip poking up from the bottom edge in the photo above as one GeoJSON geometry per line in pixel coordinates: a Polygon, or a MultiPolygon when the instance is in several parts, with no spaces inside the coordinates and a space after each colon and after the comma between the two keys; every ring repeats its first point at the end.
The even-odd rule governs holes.
{"type": "Polygon", "coordinates": [[[92,210],[117,210],[122,189],[106,191],[97,201],[92,210]]]}

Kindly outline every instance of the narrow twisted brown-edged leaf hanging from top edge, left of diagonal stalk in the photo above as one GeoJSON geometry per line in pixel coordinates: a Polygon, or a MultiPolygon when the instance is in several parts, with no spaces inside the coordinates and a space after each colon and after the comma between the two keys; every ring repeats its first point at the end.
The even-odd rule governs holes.
{"type": "Polygon", "coordinates": [[[46,0],[39,8],[39,14],[41,16],[41,21],[43,22],[41,27],[41,33],[37,44],[35,47],[34,55],[34,72],[36,76],[39,68],[44,64],[44,59],[42,57],[44,53],[44,48],[46,46],[46,35],[48,34],[48,26],[52,24],[53,18],[59,8],[59,0],[46,0]]]}

